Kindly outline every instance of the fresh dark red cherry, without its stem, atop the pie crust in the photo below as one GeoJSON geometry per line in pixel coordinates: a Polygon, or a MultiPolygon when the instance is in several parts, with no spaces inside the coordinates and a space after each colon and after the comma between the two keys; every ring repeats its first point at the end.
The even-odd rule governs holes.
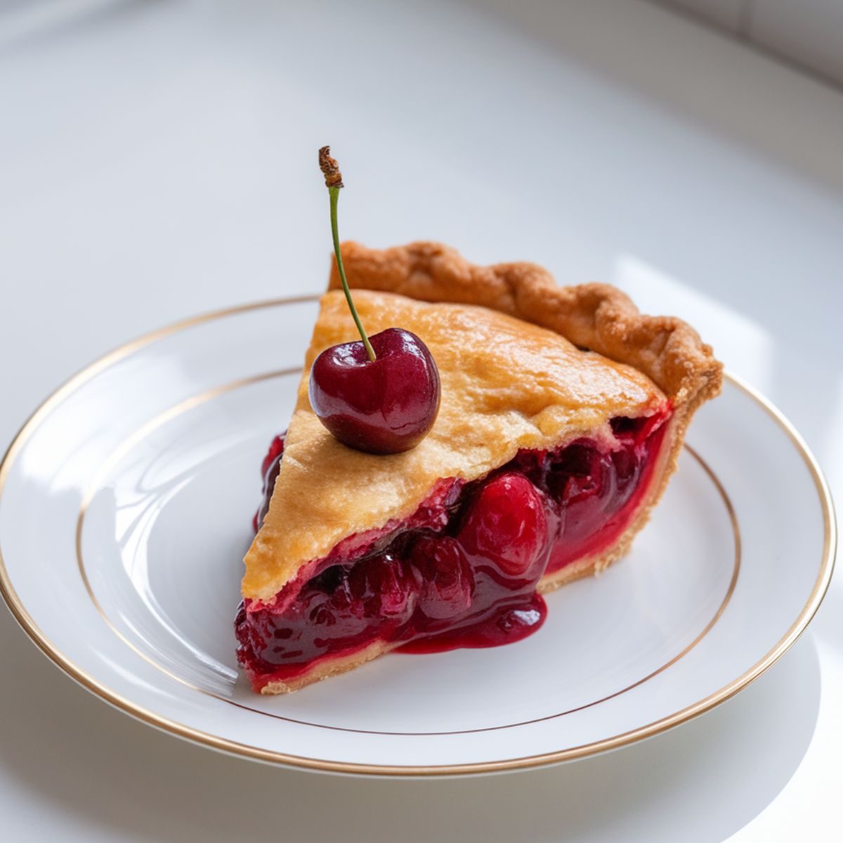
{"type": "Polygon", "coordinates": [[[341,443],[370,454],[415,448],[439,411],[439,373],[427,346],[409,330],[388,328],[326,348],[310,370],[310,405],[341,443]]]}

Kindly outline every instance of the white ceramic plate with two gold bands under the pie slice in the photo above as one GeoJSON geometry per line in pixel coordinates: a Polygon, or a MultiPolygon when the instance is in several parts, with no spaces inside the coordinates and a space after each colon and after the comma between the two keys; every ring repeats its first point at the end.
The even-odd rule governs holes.
{"type": "Polygon", "coordinates": [[[3,596],[104,700],[281,764],[497,771],[685,722],[748,685],[808,625],[834,558],[829,492],[781,414],[730,378],[695,419],[631,554],[550,594],[534,636],[389,655],[296,694],[252,694],[234,658],[241,558],[260,460],[287,424],[316,308],[261,303],[123,346],[51,396],[9,449],[3,596]]]}

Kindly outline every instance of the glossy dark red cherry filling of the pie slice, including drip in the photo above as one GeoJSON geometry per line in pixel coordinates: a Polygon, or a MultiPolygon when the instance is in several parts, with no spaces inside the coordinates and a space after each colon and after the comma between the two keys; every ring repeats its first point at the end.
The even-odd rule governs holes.
{"type": "MultiPolygon", "coordinates": [[[[387,643],[402,652],[494,647],[545,620],[541,577],[611,545],[647,490],[668,406],[617,417],[615,445],[581,438],[521,450],[481,480],[438,482],[402,523],[343,540],[270,604],[245,600],[234,628],[255,690],[325,658],[387,643]]],[[[262,465],[269,509],[283,436],[262,465]]]]}

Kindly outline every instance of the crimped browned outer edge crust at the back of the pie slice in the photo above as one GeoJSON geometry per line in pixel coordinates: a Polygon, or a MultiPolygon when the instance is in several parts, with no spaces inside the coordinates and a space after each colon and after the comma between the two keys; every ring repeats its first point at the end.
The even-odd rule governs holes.
{"type": "MultiPolygon", "coordinates": [[[[342,244],[342,260],[352,287],[482,304],[554,330],[575,346],[645,373],[674,408],[695,407],[721,389],[722,363],[690,325],[673,316],[645,316],[608,284],[559,287],[536,264],[475,266],[440,243],[376,250],[349,242],[342,244]]],[[[332,261],[330,287],[340,286],[332,261]]]]}

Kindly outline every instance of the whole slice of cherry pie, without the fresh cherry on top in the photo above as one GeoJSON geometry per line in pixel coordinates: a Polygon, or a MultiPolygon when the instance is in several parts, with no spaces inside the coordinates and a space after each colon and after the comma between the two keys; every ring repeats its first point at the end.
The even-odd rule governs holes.
{"type": "Polygon", "coordinates": [[[264,462],[235,624],[265,694],[397,647],[537,630],[541,593],[629,548],[722,380],[694,330],[642,316],[613,287],[557,287],[538,266],[472,266],[438,244],[342,255],[368,330],[400,325],[427,343],[441,406],[403,454],[336,441],[309,405],[308,373],[357,335],[342,293],[325,294],[293,419],[264,462]]]}

